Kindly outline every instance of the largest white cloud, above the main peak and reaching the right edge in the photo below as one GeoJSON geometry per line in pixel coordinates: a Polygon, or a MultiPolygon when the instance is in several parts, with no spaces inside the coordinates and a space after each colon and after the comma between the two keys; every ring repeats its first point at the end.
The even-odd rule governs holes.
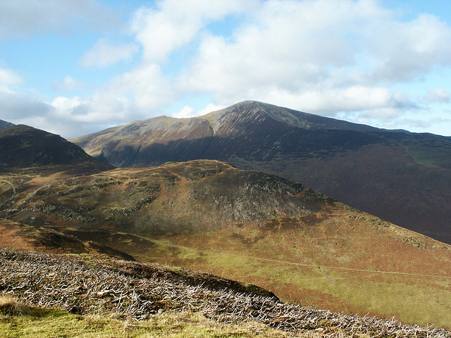
{"type": "Polygon", "coordinates": [[[388,84],[451,62],[445,23],[432,15],[401,22],[373,0],[269,0],[253,15],[233,39],[204,36],[178,88],[214,93],[223,105],[260,99],[314,113],[399,109],[414,104],[388,84]]]}

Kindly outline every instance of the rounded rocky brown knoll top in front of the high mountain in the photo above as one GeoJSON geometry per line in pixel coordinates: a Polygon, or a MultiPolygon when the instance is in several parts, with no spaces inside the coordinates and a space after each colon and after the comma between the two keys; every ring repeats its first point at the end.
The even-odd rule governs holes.
{"type": "Polygon", "coordinates": [[[16,196],[13,212],[0,214],[24,224],[168,233],[284,215],[308,218],[330,203],[302,184],[199,160],[54,180],[16,196]]]}

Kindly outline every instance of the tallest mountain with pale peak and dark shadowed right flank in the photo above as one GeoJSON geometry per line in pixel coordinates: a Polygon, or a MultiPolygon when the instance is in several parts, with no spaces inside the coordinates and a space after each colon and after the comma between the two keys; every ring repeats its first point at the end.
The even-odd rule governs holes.
{"type": "Polygon", "coordinates": [[[245,101],[71,140],[118,167],[206,158],[273,173],[451,244],[451,137],[381,130],[245,101]]]}

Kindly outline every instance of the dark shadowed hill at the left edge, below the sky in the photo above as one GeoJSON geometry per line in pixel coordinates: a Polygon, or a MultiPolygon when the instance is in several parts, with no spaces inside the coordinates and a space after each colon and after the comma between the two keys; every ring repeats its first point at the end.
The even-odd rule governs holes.
{"type": "Polygon", "coordinates": [[[51,165],[78,165],[91,173],[113,168],[56,134],[27,125],[14,125],[0,130],[1,170],[51,165]]]}

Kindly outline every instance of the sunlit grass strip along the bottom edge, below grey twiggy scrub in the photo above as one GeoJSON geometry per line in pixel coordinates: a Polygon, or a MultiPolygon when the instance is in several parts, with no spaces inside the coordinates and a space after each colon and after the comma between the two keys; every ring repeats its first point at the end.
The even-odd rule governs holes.
{"type": "MultiPolygon", "coordinates": [[[[4,338],[220,338],[292,337],[258,323],[227,325],[195,313],[162,313],[143,321],[117,320],[109,315],[74,315],[54,309],[34,308],[26,315],[0,315],[4,338]]],[[[311,334],[299,337],[314,337],[311,334]]]]}

